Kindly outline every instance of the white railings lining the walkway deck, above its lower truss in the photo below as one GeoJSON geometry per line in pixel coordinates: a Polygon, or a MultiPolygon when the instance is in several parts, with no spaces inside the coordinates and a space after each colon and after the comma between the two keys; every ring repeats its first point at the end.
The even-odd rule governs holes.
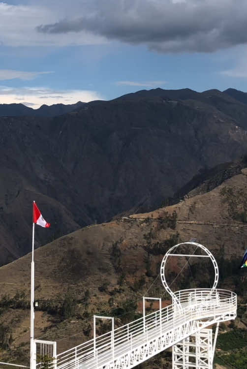
{"type": "Polygon", "coordinates": [[[93,368],[97,359],[97,368],[100,368],[106,360],[124,354],[126,345],[130,347],[142,344],[144,339],[151,339],[160,335],[160,332],[172,332],[185,322],[205,319],[206,317],[220,316],[226,312],[236,313],[237,296],[235,293],[215,289],[189,289],[175,292],[176,298],[182,304],[182,309],[176,311],[173,305],[161,309],[161,327],[157,319],[158,311],[146,315],[145,326],[143,317],[125,324],[112,332],[105,333],[96,338],[95,349],[93,339],[77,345],[57,355],[58,369],[72,369],[82,363],[90,364],[93,368]],[[189,304],[189,296],[194,294],[196,300],[189,304]],[[114,342],[112,337],[114,336],[114,342]],[[114,354],[114,355],[113,355],[114,354]]]}

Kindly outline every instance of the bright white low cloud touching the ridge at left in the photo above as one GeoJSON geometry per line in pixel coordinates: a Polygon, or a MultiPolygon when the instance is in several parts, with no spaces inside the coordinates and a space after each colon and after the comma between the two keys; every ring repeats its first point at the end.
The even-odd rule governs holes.
{"type": "Polygon", "coordinates": [[[52,90],[45,87],[14,88],[0,86],[0,103],[11,104],[18,100],[33,108],[39,108],[42,104],[74,104],[77,101],[89,102],[100,100],[102,96],[96,91],[90,90],[52,90]],[[27,102],[28,101],[28,102],[27,102]]]}

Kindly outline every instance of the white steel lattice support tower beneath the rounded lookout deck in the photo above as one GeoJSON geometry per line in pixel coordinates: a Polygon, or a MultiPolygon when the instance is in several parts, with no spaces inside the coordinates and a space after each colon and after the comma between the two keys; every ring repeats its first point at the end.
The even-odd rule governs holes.
{"type": "Polygon", "coordinates": [[[172,369],[213,369],[212,329],[202,329],[172,346],[172,369]]]}

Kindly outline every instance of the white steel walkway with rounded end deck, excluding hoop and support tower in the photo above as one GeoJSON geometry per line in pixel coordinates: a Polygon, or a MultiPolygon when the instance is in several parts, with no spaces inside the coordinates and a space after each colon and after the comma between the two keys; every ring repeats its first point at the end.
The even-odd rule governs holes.
{"type": "Polygon", "coordinates": [[[174,295],[173,305],[62,352],[54,366],[133,368],[209,325],[236,317],[237,296],[231,291],[189,289],[174,295]]]}

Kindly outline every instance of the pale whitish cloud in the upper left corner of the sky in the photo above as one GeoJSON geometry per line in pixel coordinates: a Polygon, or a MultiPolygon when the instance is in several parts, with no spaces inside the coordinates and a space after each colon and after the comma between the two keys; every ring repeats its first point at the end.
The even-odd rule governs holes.
{"type": "MultiPolygon", "coordinates": [[[[76,1],[75,1],[76,2],[76,1]]],[[[105,43],[105,38],[81,31],[74,34],[44,34],[36,30],[44,22],[71,15],[74,6],[62,1],[34,1],[33,4],[7,4],[0,1],[0,46],[67,46],[105,43]],[[70,7],[70,9],[69,9],[70,7]]]]}

